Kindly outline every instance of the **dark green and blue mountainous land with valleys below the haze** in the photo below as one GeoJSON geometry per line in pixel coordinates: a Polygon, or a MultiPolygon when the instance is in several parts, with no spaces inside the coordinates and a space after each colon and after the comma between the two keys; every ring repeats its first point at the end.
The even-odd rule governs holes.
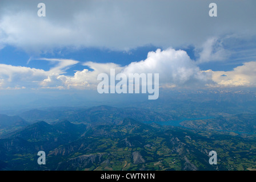
{"type": "Polygon", "coordinates": [[[105,105],[1,118],[1,170],[256,169],[256,135],[233,132],[254,133],[255,114],[181,120],[181,127],[159,124],[179,119],[171,114],[105,105]],[[37,164],[41,150],[45,165],[37,164]],[[209,164],[212,150],[217,165],[209,164]]]}

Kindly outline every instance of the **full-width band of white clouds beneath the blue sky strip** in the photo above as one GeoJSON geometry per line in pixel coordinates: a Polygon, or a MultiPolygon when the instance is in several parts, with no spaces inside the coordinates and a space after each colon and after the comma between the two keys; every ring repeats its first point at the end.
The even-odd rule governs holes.
{"type": "MultiPolygon", "coordinates": [[[[46,59],[55,63],[49,70],[29,67],[18,67],[0,64],[1,89],[96,89],[97,76],[100,73],[110,75],[124,73],[159,73],[159,86],[164,89],[195,86],[256,86],[256,61],[250,61],[234,68],[233,71],[202,71],[197,63],[191,60],[186,51],[168,48],[149,52],[145,60],[121,66],[114,63],[86,62],[90,68],[76,71],[74,76],[65,75],[65,71],[78,64],[76,60],[46,59]]],[[[143,83],[142,83],[143,84],[143,83]]]]}

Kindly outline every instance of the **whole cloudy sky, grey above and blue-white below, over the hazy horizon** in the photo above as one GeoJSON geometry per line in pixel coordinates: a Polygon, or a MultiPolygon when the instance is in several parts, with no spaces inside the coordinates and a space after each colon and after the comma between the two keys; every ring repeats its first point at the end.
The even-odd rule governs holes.
{"type": "Polygon", "coordinates": [[[159,73],[163,90],[255,88],[255,8],[254,0],[1,0],[0,97],[97,96],[97,76],[110,69],[159,73]]]}

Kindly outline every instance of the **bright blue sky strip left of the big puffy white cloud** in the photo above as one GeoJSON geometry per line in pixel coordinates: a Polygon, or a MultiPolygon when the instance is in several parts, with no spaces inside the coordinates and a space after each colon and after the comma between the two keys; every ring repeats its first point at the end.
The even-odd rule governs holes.
{"type": "MultiPolygon", "coordinates": [[[[147,53],[155,51],[157,47],[143,46],[132,49],[130,51],[113,51],[110,49],[99,48],[82,48],[82,49],[59,49],[54,52],[41,53],[39,55],[28,53],[14,46],[6,46],[0,51],[1,64],[11,64],[14,66],[33,67],[38,69],[49,70],[53,65],[48,61],[38,58],[57,58],[57,59],[73,59],[79,60],[82,63],[86,61],[95,61],[97,63],[115,63],[125,66],[134,61],[145,59],[147,53]]],[[[193,53],[193,52],[192,52],[193,53]]],[[[81,64],[75,65],[67,70],[67,75],[74,75],[74,70],[90,69],[81,64]]]]}

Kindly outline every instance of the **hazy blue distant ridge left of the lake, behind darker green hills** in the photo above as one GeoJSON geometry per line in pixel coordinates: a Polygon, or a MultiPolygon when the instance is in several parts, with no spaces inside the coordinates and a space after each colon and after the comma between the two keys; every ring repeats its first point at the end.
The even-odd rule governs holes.
{"type": "Polygon", "coordinates": [[[94,124],[101,123],[102,121],[106,123],[118,123],[126,117],[136,119],[137,121],[169,121],[179,119],[175,115],[160,114],[149,109],[137,107],[118,108],[106,105],[64,111],[34,109],[18,115],[29,122],[57,122],[67,119],[70,122],[94,124]]]}

